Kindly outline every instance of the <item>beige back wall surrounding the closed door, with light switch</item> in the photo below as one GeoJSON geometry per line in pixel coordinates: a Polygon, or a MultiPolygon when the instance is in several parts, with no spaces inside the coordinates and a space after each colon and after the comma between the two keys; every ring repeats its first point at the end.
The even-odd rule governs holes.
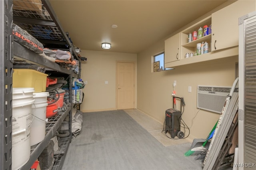
{"type": "Polygon", "coordinates": [[[87,57],[81,62],[81,78],[88,82],[81,111],[115,110],[116,61],[134,61],[136,66],[137,54],[82,50],[81,55],[87,57]]]}

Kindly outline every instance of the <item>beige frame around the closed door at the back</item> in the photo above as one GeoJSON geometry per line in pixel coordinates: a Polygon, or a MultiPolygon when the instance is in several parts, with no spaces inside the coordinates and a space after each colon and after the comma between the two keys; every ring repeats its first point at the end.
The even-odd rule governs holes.
{"type": "Polygon", "coordinates": [[[134,108],[137,108],[137,63],[136,61],[121,61],[121,60],[116,60],[116,110],[117,110],[117,63],[134,63],[134,108]]]}

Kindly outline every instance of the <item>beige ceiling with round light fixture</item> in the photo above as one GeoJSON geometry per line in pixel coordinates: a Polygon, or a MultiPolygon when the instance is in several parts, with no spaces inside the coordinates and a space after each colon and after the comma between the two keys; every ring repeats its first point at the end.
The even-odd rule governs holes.
{"type": "Polygon", "coordinates": [[[80,49],[139,53],[226,0],[50,0],[80,49]],[[112,28],[115,24],[118,27],[112,28]],[[101,43],[111,43],[102,49],[101,43]]]}

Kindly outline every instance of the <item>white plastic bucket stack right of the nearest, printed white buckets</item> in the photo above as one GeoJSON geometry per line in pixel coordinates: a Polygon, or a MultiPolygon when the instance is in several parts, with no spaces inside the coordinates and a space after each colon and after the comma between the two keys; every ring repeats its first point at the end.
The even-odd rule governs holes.
{"type": "Polygon", "coordinates": [[[49,92],[33,93],[35,99],[32,105],[32,124],[30,128],[30,145],[38,144],[45,137],[46,106],[49,92]]]}

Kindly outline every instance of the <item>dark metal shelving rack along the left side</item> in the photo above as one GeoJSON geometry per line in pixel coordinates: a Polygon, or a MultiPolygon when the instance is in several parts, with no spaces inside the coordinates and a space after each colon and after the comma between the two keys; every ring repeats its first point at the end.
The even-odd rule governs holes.
{"type": "MultiPolygon", "coordinates": [[[[75,52],[74,46],[66,32],[62,30],[50,2],[47,0],[28,0],[26,3],[40,6],[39,9],[32,10],[31,6],[25,7],[24,2],[16,0],[0,0],[0,169],[12,170],[12,71],[13,63],[22,61],[45,67],[57,74],[67,75],[69,78],[70,101],[72,101],[72,70],[66,69],[49,61],[48,59],[26,49],[19,43],[13,42],[12,23],[26,30],[30,35],[39,40],[44,47],[52,49],[68,50],[72,53],[72,59],[80,63],[80,58],[75,52]],[[18,4],[17,4],[18,2],[18,4]],[[42,3],[41,3],[42,2],[42,3]],[[22,8],[20,8],[20,6],[22,8]]],[[[25,4],[26,4],[25,3],[25,4]]],[[[54,163],[53,169],[61,169],[66,150],[72,139],[72,109],[68,108],[65,112],[58,113],[57,117],[50,118],[46,123],[46,136],[42,142],[31,147],[30,159],[20,170],[28,170],[44,150],[50,139],[55,135],[56,130],[66,117],[69,117],[70,136],[61,138],[60,148],[65,154],[54,163]]]]}

